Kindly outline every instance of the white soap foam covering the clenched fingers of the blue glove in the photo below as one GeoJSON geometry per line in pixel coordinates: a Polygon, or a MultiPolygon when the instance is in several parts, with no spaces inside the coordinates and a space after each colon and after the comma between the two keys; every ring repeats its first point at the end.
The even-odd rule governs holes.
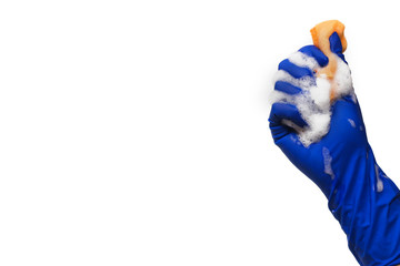
{"type": "MultiPolygon", "coordinates": [[[[270,101],[272,103],[291,103],[298,108],[308,126],[300,129],[299,126],[293,126],[293,123],[288,123],[288,121],[282,121],[282,123],[293,127],[298,132],[299,139],[304,146],[320,141],[329,132],[332,115],[330,101],[331,82],[336,88],[337,99],[344,95],[352,95],[356,101],[350,69],[339,57],[336,54],[334,57],[338,66],[332,81],[329,81],[326,76],[294,79],[283,70],[279,70],[273,79],[274,82],[284,81],[302,90],[301,93],[296,95],[273,91],[270,101]]],[[[309,68],[314,72],[321,69],[313,58],[301,52],[293,53],[289,57],[289,61],[296,65],[309,68]]]]}

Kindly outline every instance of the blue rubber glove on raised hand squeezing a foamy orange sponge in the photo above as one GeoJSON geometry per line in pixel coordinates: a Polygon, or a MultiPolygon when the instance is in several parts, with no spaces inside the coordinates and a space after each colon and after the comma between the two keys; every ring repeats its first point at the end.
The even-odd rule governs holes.
{"type": "MultiPolygon", "coordinates": [[[[337,33],[331,35],[330,44],[344,61],[337,33]]],[[[312,57],[320,66],[328,63],[328,58],[313,45],[299,51],[312,57]]],[[[279,69],[296,79],[316,78],[313,70],[289,60],[283,60],[279,69]]],[[[294,96],[302,93],[301,88],[287,81],[277,81],[274,89],[294,96]]],[[[399,188],[377,164],[356,95],[337,100],[331,112],[328,134],[306,147],[297,131],[282,123],[307,126],[297,106],[273,103],[269,121],[274,143],[327,196],[329,209],[347,234],[349,248],[360,265],[400,265],[399,188]]]]}

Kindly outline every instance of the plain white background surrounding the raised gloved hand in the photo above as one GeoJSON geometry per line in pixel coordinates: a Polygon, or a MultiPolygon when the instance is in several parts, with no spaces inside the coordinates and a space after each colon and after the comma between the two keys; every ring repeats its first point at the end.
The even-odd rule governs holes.
{"type": "Polygon", "coordinates": [[[0,264],[358,265],[267,121],[278,63],[339,19],[400,184],[398,6],[353,2],[2,1],[0,264]]]}

